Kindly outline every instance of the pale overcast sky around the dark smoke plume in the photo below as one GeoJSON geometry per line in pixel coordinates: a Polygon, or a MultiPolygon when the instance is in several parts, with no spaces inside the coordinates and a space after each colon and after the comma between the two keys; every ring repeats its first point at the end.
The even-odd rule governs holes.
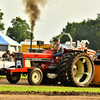
{"type": "MultiPolygon", "coordinates": [[[[12,18],[19,16],[30,24],[21,0],[0,0],[0,9],[4,13],[4,33],[11,26],[12,18]]],[[[41,7],[40,19],[34,28],[34,38],[47,44],[53,36],[61,33],[67,22],[95,19],[97,13],[100,13],[100,0],[48,0],[45,7],[41,7]]]]}

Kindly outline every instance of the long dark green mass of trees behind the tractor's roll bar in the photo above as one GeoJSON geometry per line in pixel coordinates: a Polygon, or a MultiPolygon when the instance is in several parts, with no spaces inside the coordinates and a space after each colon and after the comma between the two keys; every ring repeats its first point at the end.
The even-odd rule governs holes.
{"type": "MultiPolygon", "coordinates": [[[[77,40],[89,40],[90,49],[99,50],[100,49],[100,14],[97,14],[95,19],[87,19],[82,22],[67,22],[65,28],[62,29],[61,34],[70,33],[73,41],[77,40]]],[[[61,34],[53,37],[50,42],[55,38],[58,38],[61,34]]],[[[64,36],[61,39],[61,43],[65,43],[66,40],[69,41],[68,37],[64,36]]]]}

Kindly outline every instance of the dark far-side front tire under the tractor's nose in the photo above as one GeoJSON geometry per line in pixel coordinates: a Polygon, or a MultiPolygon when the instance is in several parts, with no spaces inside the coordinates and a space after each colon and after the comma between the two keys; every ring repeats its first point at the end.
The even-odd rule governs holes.
{"type": "Polygon", "coordinates": [[[11,74],[7,74],[6,75],[6,78],[7,78],[7,80],[11,83],[11,84],[16,84],[19,80],[20,80],[20,77],[21,77],[21,74],[20,73],[14,73],[13,75],[11,75],[11,74]],[[12,77],[16,77],[16,75],[18,75],[17,76],[17,79],[16,80],[13,80],[13,78],[12,77]]]}

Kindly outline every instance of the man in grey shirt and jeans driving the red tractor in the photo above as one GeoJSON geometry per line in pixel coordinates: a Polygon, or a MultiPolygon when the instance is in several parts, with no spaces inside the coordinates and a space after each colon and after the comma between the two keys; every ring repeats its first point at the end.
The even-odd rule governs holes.
{"type": "MultiPolygon", "coordinates": [[[[54,39],[54,44],[55,44],[55,48],[53,50],[53,58],[56,58],[58,56],[61,56],[64,52],[64,48],[61,46],[61,44],[59,44],[58,39],[54,39]]],[[[52,58],[52,62],[53,62],[53,58],[52,58]]]]}

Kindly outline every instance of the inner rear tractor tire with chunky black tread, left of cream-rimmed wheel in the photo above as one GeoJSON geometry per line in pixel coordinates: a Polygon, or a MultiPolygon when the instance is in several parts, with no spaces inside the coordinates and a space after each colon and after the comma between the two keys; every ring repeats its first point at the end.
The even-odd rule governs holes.
{"type": "Polygon", "coordinates": [[[68,79],[68,75],[66,73],[68,70],[69,61],[71,60],[73,55],[73,52],[65,53],[58,61],[57,75],[61,84],[64,86],[70,85],[70,80],[68,79]]]}

